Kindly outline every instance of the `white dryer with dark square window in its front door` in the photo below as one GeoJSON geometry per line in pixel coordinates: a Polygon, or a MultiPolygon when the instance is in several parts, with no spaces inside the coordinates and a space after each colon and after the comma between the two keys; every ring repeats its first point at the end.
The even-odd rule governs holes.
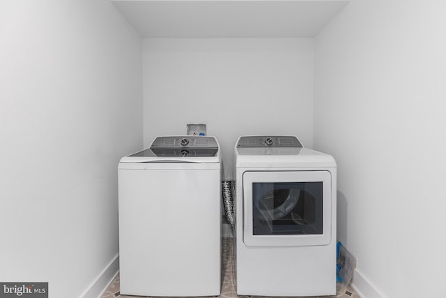
{"type": "Polygon", "coordinates": [[[237,294],[336,295],[334,158],[277,135],[235,156],[237,294]]]}

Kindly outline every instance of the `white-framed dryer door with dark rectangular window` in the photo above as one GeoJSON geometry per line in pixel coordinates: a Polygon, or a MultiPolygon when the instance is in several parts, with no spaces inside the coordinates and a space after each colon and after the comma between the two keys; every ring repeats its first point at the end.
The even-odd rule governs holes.
{"type": "Polygon", "coordinates": [[[245,172],[247,246],[330,244],[331,174],[328,171],[245,172]]]}

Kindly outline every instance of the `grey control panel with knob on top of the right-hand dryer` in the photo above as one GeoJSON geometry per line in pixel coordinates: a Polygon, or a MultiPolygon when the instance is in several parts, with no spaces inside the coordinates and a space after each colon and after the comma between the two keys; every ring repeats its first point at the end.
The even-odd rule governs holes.
{"type": "Polygon", "coordinates": [[[257,148],[257,147],[293,147],[302,148],[302,144],[294,136],[248,136],[240,137],[237,143],[238,148],[257,148]]]}

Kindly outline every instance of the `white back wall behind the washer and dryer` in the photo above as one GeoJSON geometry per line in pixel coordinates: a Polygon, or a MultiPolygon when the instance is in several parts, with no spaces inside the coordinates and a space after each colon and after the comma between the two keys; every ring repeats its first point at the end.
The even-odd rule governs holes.
{"type": "Polygon", "coordinates": [[[312,147],[313,57],[313,39],[144,39],[144,146],[207,124],[226,179],[239,135],[298,135],[312,147]]]}

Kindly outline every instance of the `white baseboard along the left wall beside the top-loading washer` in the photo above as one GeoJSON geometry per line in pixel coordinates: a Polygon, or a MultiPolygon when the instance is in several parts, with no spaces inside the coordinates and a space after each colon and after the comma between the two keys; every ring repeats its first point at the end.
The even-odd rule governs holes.
{"type": "Polygon", "coordinates": [[[102,270],[95,280],[82,293],[82,298],[98,298],[107,290],[107,287],[114,280],[119,271],[119,254],[116,254],[112,261],[102,270]]]}

